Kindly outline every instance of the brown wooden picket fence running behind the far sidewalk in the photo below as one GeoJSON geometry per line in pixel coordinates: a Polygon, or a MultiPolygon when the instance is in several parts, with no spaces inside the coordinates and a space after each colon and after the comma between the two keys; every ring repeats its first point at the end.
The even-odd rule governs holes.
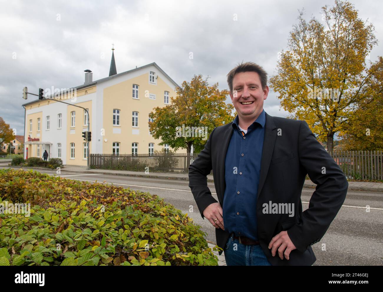
{"type": "MultiPolygon", "coordinates": [[[[188,173],[198,153],[90,154],[90,167],[126,171],[188,173]],[[147,167],[147,168],[146,168],[147,167]]],[[[332,157],[348,179],[383,180],[382,151],[333,151],[332,157]]],[[[213,172],[210,172],[213,174],[213,172]]]]}

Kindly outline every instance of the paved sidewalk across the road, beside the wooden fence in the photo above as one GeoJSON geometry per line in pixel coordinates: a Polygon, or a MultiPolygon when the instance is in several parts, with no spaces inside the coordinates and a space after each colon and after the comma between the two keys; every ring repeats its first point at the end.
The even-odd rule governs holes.
{"type": "MultiPolygon", "coordinates": [[[[8,164],[2,163],[1,166],[7,166],[8,164]]],[[[39,167],[24,167],[25,169],[45,169],[39,167]]],[[[110,170],[110,169],[90,169],[87,170],[86,166],[74,166],[67,165],[62,167],[62,171],[73,171],[73,172],[87,172],[87,173],[101,173],[101,174],[113,174],[115,176],[136,176],[136,177],[152,177],[156,179],[181,179],[189,180],[187,173],[177,173],[177,172],[149,172],[146,174],[143,171],[119,171],[119,170],[110,170]]],[[[214,182],[213,175],[208,174],[208,182],[214,182]]],[[[303,187],[315,188],[311,180],[305,180],[303,187]]],[[[349,182],[349,190],[361,190],[368,192],[383,192],[383,183],[382,182],[349,182]]]]}

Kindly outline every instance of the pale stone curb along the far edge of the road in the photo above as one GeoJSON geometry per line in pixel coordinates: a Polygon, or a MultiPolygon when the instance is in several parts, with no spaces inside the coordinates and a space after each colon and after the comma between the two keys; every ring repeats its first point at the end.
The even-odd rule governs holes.
{"type": "MultiPolygon", "coordinates": [[[[5,166],[5,165],[2,165],[5,166]]],[[[51,168],[44,168],[44,167],[26,167],[26,166],[11,166],[10,167],[19,167],[19,168],[28,168],[28,169],[43,169],[43,170],[54,170],[51,168]]],[[[65,167],[62,168],[62,170],[65,171],[65,167]]],[[[94,174],[111,174],[113,176],[136,176],[136,177],[148,177],[148,178],[154,178],[154,179],[178,179],[178,180],[189,180],[188,177],[177,177],[177,176],[156,176],[153,174],[130,174],[130,173],[110,173],[110,172],[96,172],[96,171],[83,171],[84,173],[94,173],[94,174]]],[[[214,179],[207,179],[208,182],[214,182],[214,179]]],[[[315,189],[315,184],[303,184],[303,187],[315,189]]],[[[348,187],[348,190],[357,190],[357,191],[365,191],[365,192],[383,192],[383,189],[376,188],[376,187],[355,187],[350,186],[348,187]]]]}

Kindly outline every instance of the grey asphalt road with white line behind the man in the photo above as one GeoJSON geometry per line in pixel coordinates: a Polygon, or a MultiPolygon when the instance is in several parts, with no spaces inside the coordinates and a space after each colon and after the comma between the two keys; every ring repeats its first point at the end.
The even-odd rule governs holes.
{"type": "MultiPolygon", "coordinates": [[[[1,166],[1,168],[9,168],[1,166]]],[[[56,170],[38,171],[56,176],[56,170]]],[[[207,233],[206,240],[216,243],[214,227],[203,220],[188,187],[187,180],[155,179],[107,174],[84,174],[61,171],[60,176],[90,182],[106,181],[126,188],[150,192],[164,198],[193,218],[207,233]]],[[[212,194],[213,182],[208,182],[212,194]]],[[[302,191],[303,210],[315,189],[302,191]]],[[[213,196],[217,199],[216,195],[213,196]]],[[[218,199],[217,199],[218,200],[218,199]]],[[[371,266],[383,265],[383,192],[349,191],[346,200],[321,241],[312,246],[317,258],[314,266],[371,266]],[[366,206],[370,212],[366,212],[366,206]],[[373,209],[373,208],[377,208],[373,209]],[[380,210],[379,210],[380,209],[380,210]]],[[[363,269],[357,271],[363,273],[363,269]]]]}

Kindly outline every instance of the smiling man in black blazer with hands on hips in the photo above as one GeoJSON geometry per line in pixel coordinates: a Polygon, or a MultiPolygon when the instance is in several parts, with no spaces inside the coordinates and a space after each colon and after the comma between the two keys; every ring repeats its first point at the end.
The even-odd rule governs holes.
{"type": "Polygon", "coordinates": [[[262,67],[239,64],[229,72],[228,85],[238,115],[214,128],[189,167],[201,216],[216,228],[228,265],[312,265],[311,245],[342,206],[347,179],[305,121],[265,113],[262,67]],[[207,187],[211,169],[218,202],[207,187]],[[306,174],[317,187],[302,212],[306,174]]]}

